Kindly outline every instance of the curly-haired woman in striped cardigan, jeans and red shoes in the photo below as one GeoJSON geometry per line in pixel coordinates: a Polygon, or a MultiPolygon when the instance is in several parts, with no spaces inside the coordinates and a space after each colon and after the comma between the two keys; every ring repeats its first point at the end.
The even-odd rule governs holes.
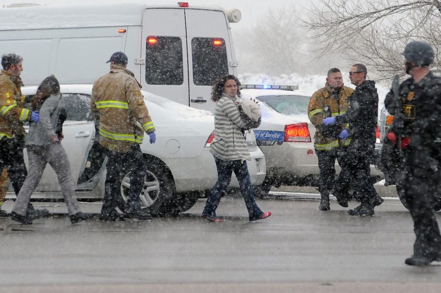
{"type": "Polygon", "coordinates": [[[222,192],[230,184],[232,172],[239,181],[249,221],[265,219],[271,215],[271,212],[264,213],[254,200],[253,186],[245,161],[251,159],[242,132],[245,122],[241,119],[236,102],[236,95],[240,96],[239,86],[240,82],[234,75],[225,75],[215,81],[211,91],[211,99],[216,103],[216,107],[215,136],[210,152],[216,162],[218,181],[211,189],[202,217],[216,223],[221,222],[216,216],[216,209],[221,201],[222,192]]]}

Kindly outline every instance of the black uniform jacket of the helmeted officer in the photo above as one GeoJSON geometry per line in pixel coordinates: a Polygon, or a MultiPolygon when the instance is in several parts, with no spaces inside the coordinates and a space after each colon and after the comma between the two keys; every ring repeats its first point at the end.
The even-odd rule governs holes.
{"type": "MultiPolygon", "coordinates": [[[[427,146],[439,150],[441,144],[441,77],[429,72],[418,83],[413,78],[399,87],[402,112],[405,116],[403,135],[410,136],[410,147],[427,146]]],[[[389,113],[395,114],[391,90],[384,101],[389,113]]],[[[392,130],[393,131],[393,130],[392,130]]]]}

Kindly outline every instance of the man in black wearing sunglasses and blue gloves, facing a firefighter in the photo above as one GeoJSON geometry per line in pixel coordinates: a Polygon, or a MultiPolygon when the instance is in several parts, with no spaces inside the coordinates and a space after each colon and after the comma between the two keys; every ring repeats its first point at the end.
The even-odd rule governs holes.
{"type": "Polygon", "coordinates": [[[354,64],[350,68],[349,78],[356,88],[347,98],[349,108],[343,115],[323,120],[324,125],[349,123],[347,131],[352,140],[347,148],[339,151],[342,172],[334,186],[334,195],[338,196],[349,184],[353,184],[355,193],[361,197],[361,204],[348,210],[351,216],[372,216],[375,214],[374,207],[383,203],[370,180],[370,158],[376,141],[378,93],[375,82],[366,80],[367,73],[368,69],[363,64],[354,64]]]}

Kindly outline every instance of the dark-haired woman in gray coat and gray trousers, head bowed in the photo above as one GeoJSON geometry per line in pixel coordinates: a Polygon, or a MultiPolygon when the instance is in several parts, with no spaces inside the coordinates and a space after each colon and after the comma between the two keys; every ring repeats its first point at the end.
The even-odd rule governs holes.
{"type": "MultiPolygon", "coordinates": [[[[65,118],[59,125],[59,118],[64,110],[60,98],[60,84],[55,76],[51,75],[42,81],[32,101],[33,109],[40,111],[40,121],[29,124],[29,133],[26,135],[25,142],[29,170],[11,215],[11,220],[22,224],[32,224],[32,220],[26,214],[26,206],[48,163],[57,174],[71,223],[75,224],[90,217],[79,209],[75,197],[71,166],[61,145],[63,134],[60,126],[65,118]]],[[[63,117],[63,115],[61,116],[63,117]]]]}

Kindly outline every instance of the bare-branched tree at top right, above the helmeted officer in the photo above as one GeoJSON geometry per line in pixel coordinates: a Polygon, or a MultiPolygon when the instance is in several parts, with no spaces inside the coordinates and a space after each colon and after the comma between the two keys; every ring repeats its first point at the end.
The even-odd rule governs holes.
{"type": "Polygon", "coordinates": [[[332,52],[364,63],[379,80],[404,75],[400,53],[420,40],[435,50],[433,70],[441,72],[441,3],[439,0],[319,0],[304,21],[309,43],[319,56],[332,52]]]}

